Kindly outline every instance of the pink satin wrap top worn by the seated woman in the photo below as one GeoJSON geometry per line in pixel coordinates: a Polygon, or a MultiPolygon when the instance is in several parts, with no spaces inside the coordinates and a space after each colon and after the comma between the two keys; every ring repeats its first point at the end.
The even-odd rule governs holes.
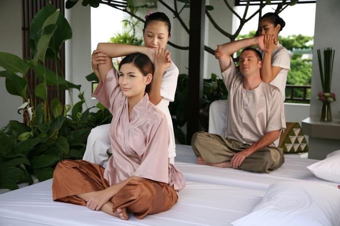
{"type": "Polygon", "coordinates": [[[128,115],[127,98],[119,87],[118,73],[112,68],[104,82],[99,82],[93,96],[113,116],[109,132],[112,156],[103,175],[109,185],[133,175],[168,183],[175,190],[183,189],[182,174],[168,164],[166,118],[148,100],[148,95],[145,94],[128,115]]]}

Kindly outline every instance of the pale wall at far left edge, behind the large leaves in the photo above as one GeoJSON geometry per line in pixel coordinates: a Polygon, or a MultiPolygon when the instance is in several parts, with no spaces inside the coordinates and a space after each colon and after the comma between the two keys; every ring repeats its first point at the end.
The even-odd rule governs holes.
{"type": "MultiPolygon", "coordinates": [[[[1,0],[0,3],[0,52],[9,52],[22,57],[21,42],[21,1],[1,0]]],[[[3,68],[0,67],[0,71],[3,68]]],[[[0,78],[0,128],[9,120],[22,122],[22,115],[16,110],[22,104],[19,96],[7,93],[5,79],[0,78]]]]}

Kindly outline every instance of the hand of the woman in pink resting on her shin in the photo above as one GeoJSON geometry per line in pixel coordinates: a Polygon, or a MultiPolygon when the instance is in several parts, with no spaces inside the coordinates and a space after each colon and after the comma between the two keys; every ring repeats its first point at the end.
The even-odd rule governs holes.
{"type": "MultiPolygon", "coordinates": [[[[112,189],[112,186],[110,187],[110,189],[112,189]]],[[[112,193],[112,191],[108,191],[108,189],[93,192],[86,200],[86,206],[92,211],[98,211],[114,195],[115,193],[112,193]]]]}

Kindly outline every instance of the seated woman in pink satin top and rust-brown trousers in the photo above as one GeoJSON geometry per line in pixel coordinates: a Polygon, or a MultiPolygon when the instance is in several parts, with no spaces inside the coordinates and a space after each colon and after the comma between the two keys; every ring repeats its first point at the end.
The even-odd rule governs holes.
{"type": "MultiPolygon", "coordinates": [[[[98,48],[105,50],[98,44],[98,48]]],[[[168,52],[158,49],[154,63],[166,68],[168,52]]],[[[53,174],[53,200],[87,206],[122,220],[127,212],[142,219],[170,209],[185,187],[182,174],[168,163],[167,121],[148,99],[153,65],[141,53],[126,56],[119,74],[109,60],[100,64],[94,96],[112,113],[112,156],[106,169],[83,160],[63,160],[53,174]]]]}

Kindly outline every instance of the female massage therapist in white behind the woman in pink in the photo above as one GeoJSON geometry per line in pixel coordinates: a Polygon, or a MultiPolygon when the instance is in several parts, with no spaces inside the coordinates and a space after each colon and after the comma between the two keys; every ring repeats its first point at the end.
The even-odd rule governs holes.
{"type": "MultiPolygon", "coordinates": [[[[153,62],[156,49],[164,49],[170,38],[171,24],[169,18],[163,12],[154,12],[146,17],[143,38],[145,47],[134,45],[122,45],[117,43],[105,43],[111,49],[108,52],[94,50],[92,53],[92,70],[98,75],[98,65],[105,63],[115,56],[126,56],[131,53],[140,52],[146,54],[153,62]],[[108,58],[109,57],[109,58],[108,58]]],[[[154,64],[155,73],[148,91],[149,99],[160,111],[165,114],[169,128],[170,140],[168,147],[169,163],[174,164],[175,140],[172,127],[171,115],[168,109],[169,102],[174,100],[177,86],[178,68],[170,60],[170,53],[167,54],[170,65],[161,69],[154,64]]],[[[99,165],[105,165],[108,160],[107,151],[110,152],[110,141],[108,137],[109,124],[93,128],[88,135],[86,150],[83,160],[99,165]]]]}

